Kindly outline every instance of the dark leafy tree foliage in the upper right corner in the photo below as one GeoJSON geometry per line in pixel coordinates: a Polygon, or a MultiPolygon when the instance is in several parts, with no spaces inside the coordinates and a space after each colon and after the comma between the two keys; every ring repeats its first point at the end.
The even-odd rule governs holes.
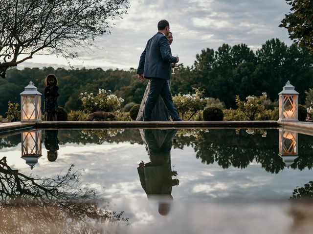
{"type": "Polygon", "coordinates": [[[291,12],[285,15],[279,27],[287,28],[289,38],[299,46],[313,52],[313,2],[312,0],[286,0],[291,12]]]}

